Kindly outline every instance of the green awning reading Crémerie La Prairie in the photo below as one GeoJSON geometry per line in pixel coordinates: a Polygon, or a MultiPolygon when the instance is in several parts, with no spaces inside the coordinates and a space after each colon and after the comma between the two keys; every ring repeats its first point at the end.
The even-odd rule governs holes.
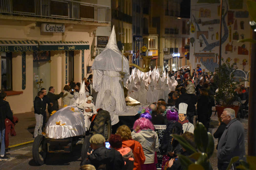
{"type": "Polygon", "coordinates": [[[52,50],[88,50],[89,42],[85,41],[38,41],[40,51],[52,50]]]}

